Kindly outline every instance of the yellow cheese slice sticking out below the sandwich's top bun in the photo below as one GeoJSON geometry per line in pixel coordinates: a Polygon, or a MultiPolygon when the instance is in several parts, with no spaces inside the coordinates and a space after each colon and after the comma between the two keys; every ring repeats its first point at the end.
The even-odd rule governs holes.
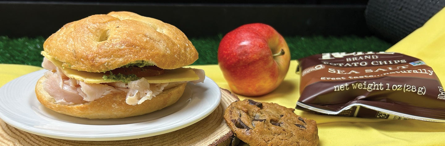
{"type": "MultiPolygon", "coordinates": [[[[42,55],[46,57],[49,61],[53,62],[62,72],[69,78],[74,78],[85,83],[109,83],[114,82],[110,80],[104,80],[102,77],[107,75],[105,73],[93,73],[80,71],[76,69],[64,68],[62,67],[63,62],[58,61],[56,58],[50,56],[45,51],[42,51],[42,55]]],[[[149,83],[170,83],[177,81],[195,81],[199,77],[191,68],[178,68],[178,69],[166,69],[162,75],[145,77],[149,83]]]]}

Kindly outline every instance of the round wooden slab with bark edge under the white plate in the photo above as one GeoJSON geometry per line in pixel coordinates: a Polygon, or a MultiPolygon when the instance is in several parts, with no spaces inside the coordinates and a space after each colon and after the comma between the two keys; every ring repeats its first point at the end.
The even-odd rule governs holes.
{"type": "Polygon", "coordinates": [[[182,128],[157,136],[119,141],[75,141],[48,138],[12,127],[0,120],[0,145],[2,146],[236,146],[239,143],[223,119],[224,111],[239,98],[221,88],[221,103],[206,118],[182,128]]]}

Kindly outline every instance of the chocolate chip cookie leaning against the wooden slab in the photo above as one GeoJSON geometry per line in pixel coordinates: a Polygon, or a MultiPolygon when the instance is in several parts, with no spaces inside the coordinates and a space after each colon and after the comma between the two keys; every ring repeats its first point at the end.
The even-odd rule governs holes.
{"type": "Polygon", "coordinates": [[[235,136],[250,146],[316,146],[316,122],[275,103],[245,99],[231,103],[224,112],[235,136]]]}

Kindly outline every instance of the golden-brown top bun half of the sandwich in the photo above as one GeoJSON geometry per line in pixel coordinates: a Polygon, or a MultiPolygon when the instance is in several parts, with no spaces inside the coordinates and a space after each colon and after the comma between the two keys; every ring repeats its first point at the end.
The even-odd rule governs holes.
{"type": "Polygon", "coordinates": [[[198,59],[198,52],[177,27],[132,12],[91,15],[65,24],[43,46],[64,67],[88,72],[138,61],[176,69],[198,59]]]}

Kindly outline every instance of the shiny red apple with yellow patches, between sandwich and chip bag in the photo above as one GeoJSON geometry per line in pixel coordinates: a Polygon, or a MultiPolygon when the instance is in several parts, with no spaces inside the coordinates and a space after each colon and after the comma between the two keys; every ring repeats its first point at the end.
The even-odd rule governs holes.
{"type": "Polygon", "coordinates": [[[218,47],[218,65],[231,90],[262,96],[277,88],[289,69],[291,54],[283,36],[263,23],[227,33],[218,47]]]}

